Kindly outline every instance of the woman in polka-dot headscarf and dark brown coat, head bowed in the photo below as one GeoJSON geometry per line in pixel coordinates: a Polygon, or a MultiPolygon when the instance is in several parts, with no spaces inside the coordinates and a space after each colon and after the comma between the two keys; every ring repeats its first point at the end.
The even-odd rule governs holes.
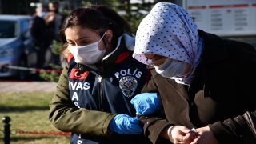
{"type": "Polygon", "coordinates": [[[256,141],[246,121],[256,115],[253,46],[198,30],[182,7],[159,2],[138,26],[133,57],[152,74],[131,100],[151,142],[256,141]]]}

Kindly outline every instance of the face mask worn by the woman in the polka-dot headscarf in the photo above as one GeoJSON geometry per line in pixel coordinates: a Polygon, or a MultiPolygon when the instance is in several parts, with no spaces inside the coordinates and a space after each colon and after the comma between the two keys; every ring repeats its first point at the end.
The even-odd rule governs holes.
{"type": "Polygon", "coordinates": [[[158,74],[161,74],[165,78],[175,77],[183,74],[186,70],[186,62],[178,62],[172,58],[167,58],[160,66],[154,66],[158,74]]]}

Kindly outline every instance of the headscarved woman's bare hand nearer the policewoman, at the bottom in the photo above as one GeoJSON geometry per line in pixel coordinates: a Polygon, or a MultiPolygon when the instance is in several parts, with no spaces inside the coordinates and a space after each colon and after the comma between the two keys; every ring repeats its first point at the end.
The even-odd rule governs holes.
{"type": "Polygon", "coordinates": [[[186,126],[174,126],[169,131],[169,137],[174,144],[176,143],[187,143],[194,141],[194,138],[196,138],[198,135],[197,132],[188,129],[186,126]]]}

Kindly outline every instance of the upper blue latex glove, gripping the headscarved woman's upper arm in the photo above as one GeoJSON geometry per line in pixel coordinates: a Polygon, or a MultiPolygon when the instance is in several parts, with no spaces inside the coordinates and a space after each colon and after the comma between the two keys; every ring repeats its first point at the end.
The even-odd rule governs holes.
{"type": "Polygon", "coordinates": [[[160,110],[157,93],[137,94],[130,100],[130,103],[134,105],[136,114],[138,115],[152,114],[154,111],[160,110]]]}

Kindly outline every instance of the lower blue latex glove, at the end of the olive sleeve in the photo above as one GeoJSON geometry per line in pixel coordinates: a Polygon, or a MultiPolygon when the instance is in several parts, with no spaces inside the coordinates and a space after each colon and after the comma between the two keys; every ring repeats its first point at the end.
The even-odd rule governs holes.
{"type": "Polygon", "coordinates": [[[126,114],[116,115],[110,122],[110,130],[118,134],[140,134],[143,131],[137,117],[126,114]]]}

